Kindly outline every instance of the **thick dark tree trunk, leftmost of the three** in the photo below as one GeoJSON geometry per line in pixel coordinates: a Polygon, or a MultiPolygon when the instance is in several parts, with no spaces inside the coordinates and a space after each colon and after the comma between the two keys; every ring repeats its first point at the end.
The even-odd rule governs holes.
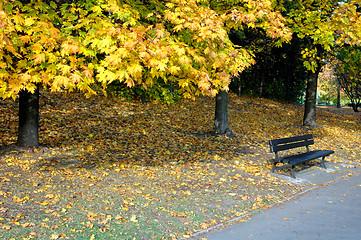
{"type": "Polygon", "coordinates": [[[34,93],[22,90],[19,93],[19,147],[39,146],[39,86],[34,93]]]}

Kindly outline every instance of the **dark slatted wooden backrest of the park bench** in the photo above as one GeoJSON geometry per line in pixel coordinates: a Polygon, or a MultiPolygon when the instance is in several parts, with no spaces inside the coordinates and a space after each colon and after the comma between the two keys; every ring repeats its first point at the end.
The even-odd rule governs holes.
{"type": "Polygon", "coordinates": [[[308,146],[311,144],[314,144],[312,134],[289,138],[279,138],[269,141],[270,150],[274,153],[298,147],[306,147],[307,151],[309,151],[308,146]]]}

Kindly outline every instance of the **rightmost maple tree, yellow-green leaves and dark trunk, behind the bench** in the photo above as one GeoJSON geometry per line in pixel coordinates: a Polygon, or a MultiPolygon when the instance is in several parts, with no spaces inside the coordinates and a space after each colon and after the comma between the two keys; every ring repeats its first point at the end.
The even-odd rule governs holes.
{"type": "Polygon", "coordinates": [[[319,72],[327,54],[338,48],[359,44],[361,17],[360,1],[280,1],[279,8],[288,19],[293,37],[305,40],[304,66],[308,70],[303,124],[317,126],[316,92],[319,72]]]}

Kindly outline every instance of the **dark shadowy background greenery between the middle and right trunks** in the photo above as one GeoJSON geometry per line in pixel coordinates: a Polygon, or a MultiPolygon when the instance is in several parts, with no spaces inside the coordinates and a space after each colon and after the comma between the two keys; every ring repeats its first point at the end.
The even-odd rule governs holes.
{"type": "Polygon", "coordinates": [[[251,30],[244,31],[244,34],[243,39],[238,37],[234,41],[240,44],[250,41],[253,47],[257,46],[256,64],[233,81],[232,90],[237,92],[241,84],[242,94],[289,102],[300,101],[307,77],[301,56],[301,40],[295,38],[279,47],[262,32],[251,30]]]}

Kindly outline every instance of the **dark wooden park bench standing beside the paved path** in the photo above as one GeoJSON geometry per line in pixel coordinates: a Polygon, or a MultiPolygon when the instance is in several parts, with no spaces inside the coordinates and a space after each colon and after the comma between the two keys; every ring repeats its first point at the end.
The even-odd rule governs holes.
{"type": "Polygon", "coordinates": [[[275,159],[273,162],[272,172],[275,170],[281,170],[284,168],[291,167],[291,177],[296,178],[295,176],[295,166],[299,164],[303,164],[318,158],[321,159],[321,165],[326,168],[325,165],[325,157],[334,153],[332,150],[313,150],[310,151],[309,145],[314,144],[313,135],[307,134],[296,137],[289,138],[279,138],[269,141],[270,150],[272,153],[275,153],[275,159]],[[286,155],[279,156],[279,152],[286,151],[294,148],[306,147],[305,152],[294,154],[294,155],[286,155]],[[277,163],[283,163],[282,166],[277,167],[277,163]]]}

